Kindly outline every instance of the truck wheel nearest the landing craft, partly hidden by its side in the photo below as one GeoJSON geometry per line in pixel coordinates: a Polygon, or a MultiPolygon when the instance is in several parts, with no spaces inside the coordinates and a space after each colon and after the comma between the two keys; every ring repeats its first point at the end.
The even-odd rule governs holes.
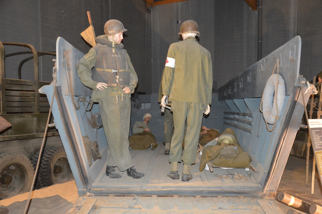
{"type": "Polygon", "coordinates": [[[54,147],[43,155],[39,177],[43,186],[64,183],[74,179],[62,146],[54,147]]]}

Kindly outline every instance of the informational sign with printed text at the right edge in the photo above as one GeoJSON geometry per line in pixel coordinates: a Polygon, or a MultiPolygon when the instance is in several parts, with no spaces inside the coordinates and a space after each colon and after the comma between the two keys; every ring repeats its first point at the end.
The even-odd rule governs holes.
{"type": "Polygon", "coordinates": [[[311,142],[315,160],[317,162],[317,169],[322,183],[322,119],[309,119],[308,126],[311,135],[311,142]]]}

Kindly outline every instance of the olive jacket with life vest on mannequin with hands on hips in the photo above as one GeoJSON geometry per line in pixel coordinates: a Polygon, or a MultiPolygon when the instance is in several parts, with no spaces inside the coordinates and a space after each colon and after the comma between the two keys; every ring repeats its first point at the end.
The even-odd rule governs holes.
{"type": "Polygon", "coordinates": [[[134,88],[137,85],[137,74],[133,68],[133,65],[130,61],[130,57],[122,43],[115,44],[115,54],[112,51],[112,42],[109,41],[107,36],[101,35],[95,38],[97,44],[79,61],[79,67],[77,69],[78,76],[81,79],[81,82],[93,89],[93,94],[91,99],[93,101],[98,101],[99,98],[111,97],[118,94],[122,94],[124,97],[131,97],[131,93],[134,92],[134,88]],[[106,55],[106,56],[103,56],[106,55]],[[95,67],[93,73],[91,69],[95,67]],[[121,72],[115,72],[114,70],[121,70],[121,72]],[[114,71],[114,72],[111,72],[114,71]],[[125,73],[129,73],[129,82],[126,85],[122,84],[122,80],[126,79],[122,76],[125,73]],[[113,74],[112,78],[107,77],[106,75],[113,74]],[[117,78],[116,75],[118,76],[117,78]],[[111,85],[112,82],[108,82],[104,79],[115,80],[115,85],[111,85]],[[94,80],[93,80],[94,79],[94,80]],[[119,79],[120,81],[116,81],[119,79]],[[105,82],[109,86],[100,91],[96,88],[98,82],[105,82]],[[122,88],[130,88],[131,93],[124,94],[122,88]],[[121,87],[121,88],[120,88],[121,87]]]}

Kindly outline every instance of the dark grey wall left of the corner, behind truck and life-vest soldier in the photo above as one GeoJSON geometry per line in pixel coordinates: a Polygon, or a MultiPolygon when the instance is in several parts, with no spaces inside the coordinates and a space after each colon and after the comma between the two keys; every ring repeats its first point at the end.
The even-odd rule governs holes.
{"type": "MultiPolygon", "coordinates": [[[[146,46],[142,46],[145,42],[137,42],[137,38],[146,35],[145,4],[142,0],[0,1],[0,41],[28,43],[37,51],[56,51],[56,39],[61,36],[87,53],[91,46],[80,35],[89,26],[87,11],[91,12],[97,36],[104,34],[104,24],[110,18],[120,20],[128,29],[124,45],[134,67],[137,71],[146,70],[146,46]]],[[[16,51],[29,49],[5,46],[6,54],[16,51]]],[[[17,79],[19,62],[29,56],[7,58],[6,78],[17,79]]],[[[52,81],[53,58],[39,58],[40,80],[52,81]]],[[[22,79],[33,79],[32,60],[24,65],[22,79]]]]}

